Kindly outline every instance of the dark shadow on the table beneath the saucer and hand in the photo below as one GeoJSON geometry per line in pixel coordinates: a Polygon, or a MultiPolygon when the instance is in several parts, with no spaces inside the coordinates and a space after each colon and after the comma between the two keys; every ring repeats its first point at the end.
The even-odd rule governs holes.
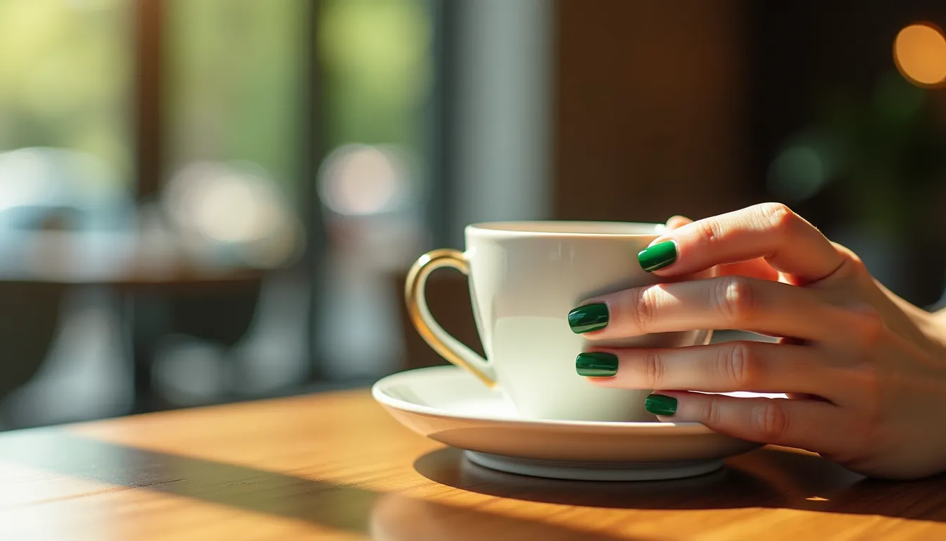
{"type": "Polygon", "coordinates": [[[763,447],[717,472],[665,481],[571,481],[489,470],[443,448],[414,462],[434,482],[489,496],[610,509],[797,509],[946,522],[946,476],[883,481],[815,455],[763,447]]]}

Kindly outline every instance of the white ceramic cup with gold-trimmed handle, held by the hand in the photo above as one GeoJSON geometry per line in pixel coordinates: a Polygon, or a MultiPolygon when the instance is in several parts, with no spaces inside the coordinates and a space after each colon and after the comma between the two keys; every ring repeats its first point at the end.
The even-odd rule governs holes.
{"type": "Polygon", "coordinates": [[[639,251],[662,228],[609,222],[467,225],[466,251],[433,250],[413,264],[405,284],[408,312],[434,351],[485,385],[498,387],[522,417],[656,421],[643,407],[648,390],[596,387],[575,371],[575,357],[592,346],[706,344],[710,331],[591,342],[571,332],[568,314],[587,298],[662,281],[638,262],[639,251]],[[447,334],[430,315],[424,284],[441,267],[468,276],[486,359],[447,334]]]}

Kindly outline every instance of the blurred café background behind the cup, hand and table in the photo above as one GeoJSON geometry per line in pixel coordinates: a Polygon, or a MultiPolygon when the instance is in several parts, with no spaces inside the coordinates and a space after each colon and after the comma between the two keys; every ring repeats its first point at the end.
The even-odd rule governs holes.
{"type": "Polygon", "coordinates": [[[0,429],[440,364],[482,220],[781,201],[941,302],[946,4],[780,4],[0,0],[0,429]]]}

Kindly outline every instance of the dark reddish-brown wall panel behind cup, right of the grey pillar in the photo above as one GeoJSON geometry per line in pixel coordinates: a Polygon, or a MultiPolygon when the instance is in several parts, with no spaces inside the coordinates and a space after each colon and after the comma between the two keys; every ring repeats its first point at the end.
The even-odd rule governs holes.
{"type": "Polygon", "coordinates": [[[557,3],[558,218],[664,221],[754,198],[735,0],[557,3]]]}

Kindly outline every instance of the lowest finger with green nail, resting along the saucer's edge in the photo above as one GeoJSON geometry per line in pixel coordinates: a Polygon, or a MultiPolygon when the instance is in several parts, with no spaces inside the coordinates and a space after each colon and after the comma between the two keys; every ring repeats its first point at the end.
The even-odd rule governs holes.
{"type": "Polygon", "coordinates": [[[854,441],[844,410],[827,402],[660,391],[645,406],[661,421],[695,421],[749,442],[842,454],[854,441]]]}

